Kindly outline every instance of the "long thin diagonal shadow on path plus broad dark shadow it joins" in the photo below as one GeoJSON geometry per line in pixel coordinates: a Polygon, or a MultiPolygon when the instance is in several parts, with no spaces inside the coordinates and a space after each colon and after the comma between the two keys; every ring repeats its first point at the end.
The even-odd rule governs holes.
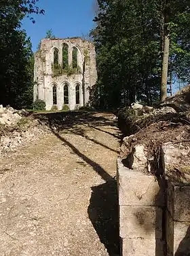
{"type": "MultiPolygon", "coordinates": [[[[104,120],[102,118],[90,117],[91,122],[99,124],[99,120],[104,120]]],[[[105,121],[105,120],[104,120],[105,121]]],[[[92,187],[92,194],[90,198],[90,205],[88,206],[88,216],[100,242],[102,242],[107,249],[109,256],[119,255],[119,211],[118,211],[118,196],[117,196],[117,183],[109,173],[107,173],[102,166],[85,156],[79,149],[77,149],[73,144],[64,139],[57,130],[62,130],[62,121],[58,122],[57,125],[55,120],[52,122],[52,118],[46,120],[48,122],[52,133],[64,143],[64,145],[69,146],[73,153],[75,153],[79,158],[85,161],[87,164],[92,166],[93,170],[100,175],[100,177],[105,181],[104,184],[92,187]]],[[[81,123],[81,121],[79,121],[81,123]]],[[[83,122],[82,122],[83,123],[83,122]]],[[[89,123],[89,120],[86,120],[89,123]]],[[[108,122],[109,123],[109,122],[108,122]]],[[[76,123],[75,123],[76,124],[76,123]]],[[[73,127],[74,123],[67,126],[68,128],[73,127]]],[[[107,125],[107,123],[106,123],[107,125]]],[[[73,132],[75,133],[75,132],[73,132]]],[[[79,134],[84,136],[83,131],[79,134]],[[80,134],[81,133],[81,134],[80,134]]],[[[93,141],[96,143],[95,141],[93,141]]],[[[109,149],[109,148],[108,148],[109,149]]]]}

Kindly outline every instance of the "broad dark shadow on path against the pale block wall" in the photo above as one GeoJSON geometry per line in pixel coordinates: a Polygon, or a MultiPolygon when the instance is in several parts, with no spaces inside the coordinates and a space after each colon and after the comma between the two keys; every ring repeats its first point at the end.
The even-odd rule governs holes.
{"type": "Polygon", "coordinates": [[[110,179],[92,187],[88,216],[109,256],[119,255],[119,211],[115,180],[110,179]]]}

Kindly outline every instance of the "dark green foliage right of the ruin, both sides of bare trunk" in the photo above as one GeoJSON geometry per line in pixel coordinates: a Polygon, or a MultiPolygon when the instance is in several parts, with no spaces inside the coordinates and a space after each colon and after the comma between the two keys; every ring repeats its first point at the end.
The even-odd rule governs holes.
{"type": "MultiPolygon", "coordinates": [[[[112,109],[159,98],[164,17],[169,9],[172,78],[190,81],[190,4],[177,0],[99,0],[96,28],[98,81],[92,103],[112,109]]],[[[166,24],[165,24],[166,25],[166,24]]]]}

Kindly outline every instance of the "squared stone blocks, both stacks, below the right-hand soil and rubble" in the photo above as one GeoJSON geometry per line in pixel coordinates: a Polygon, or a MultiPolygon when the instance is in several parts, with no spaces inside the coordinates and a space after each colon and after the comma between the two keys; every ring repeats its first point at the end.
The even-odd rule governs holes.
{"type": "Polygon", "coordinates": [[[190,255],[190,186],[117,160],[121,256],[190,255]]]}

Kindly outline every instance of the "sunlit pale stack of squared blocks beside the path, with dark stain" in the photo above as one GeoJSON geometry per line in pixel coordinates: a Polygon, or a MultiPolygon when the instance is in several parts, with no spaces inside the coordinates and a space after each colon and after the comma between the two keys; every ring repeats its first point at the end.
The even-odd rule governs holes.
{"type": "Polygon", "coordinates": [[[122,256],[163,254],[164,194],[153,175],[130,170],[117,160],[119,232],[122,256]]]}

